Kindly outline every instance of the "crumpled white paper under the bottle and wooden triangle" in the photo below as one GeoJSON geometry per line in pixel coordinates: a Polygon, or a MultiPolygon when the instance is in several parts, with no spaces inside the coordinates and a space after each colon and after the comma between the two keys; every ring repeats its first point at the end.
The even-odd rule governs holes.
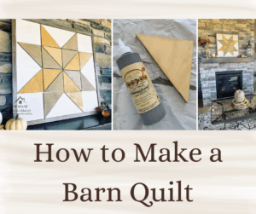
{"type": "Polygon", "coordinates": [[[196,130],[196,20],[113,20],[113,129],[114,130],[196,130]],[[152,80],[166,78],[164,72],[149,55],[148,50],[136,37],[136,33],[150,36],[177,38],[194,42],[193,60],[186,103],[177,90],[170,85],[154,84],[166,117],[159,123],[143,125],[123,78],[119,78],[114,49],[120,38],[133,52],[139,53],[152,80]],[[191,88],[193,90],[191,90],[191,88]]]}

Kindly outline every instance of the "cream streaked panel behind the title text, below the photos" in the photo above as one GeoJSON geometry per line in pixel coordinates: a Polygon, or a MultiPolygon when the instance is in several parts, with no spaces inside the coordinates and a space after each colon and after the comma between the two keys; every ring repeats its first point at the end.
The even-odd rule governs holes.
{"type": "MultiPolygon", "coordinates": [[[[0,143],[0,213],[254,214],[255,141],[253,131],[4,131],[0,143]],[[157,143],[156,151],[167,147],[172,155],[173,141],[178,141],[179,148],[200,148],[201,162],[133,162],[133,143],[141,144],[144,149],[149,143],[157,143]],[[43,146],[54,143],[53,153],[61,147],[94,150],[87,163],[76,163],[73,158],[66,163],[34,163],[35,142],[43,146]],[[122,148],[125,160],[103,163],[100,153],[103,145],[109,151],[122,148]],[[223,163],[209,161],[213,147],[221,149],[223,163]],[[149,188],[169,188],[169,182],[179,180],[183,188],[188,184],[193,188],[190,198],[194,202],[154,202],[148,208],[131,200],[130,189],[137,182],[149,188]],[[63,182],[76,183],[80,189],[120,188],[123,202],[62,202],[63,182]]],[[[172,186],[176,193],[176,186],[172,186]]]]}

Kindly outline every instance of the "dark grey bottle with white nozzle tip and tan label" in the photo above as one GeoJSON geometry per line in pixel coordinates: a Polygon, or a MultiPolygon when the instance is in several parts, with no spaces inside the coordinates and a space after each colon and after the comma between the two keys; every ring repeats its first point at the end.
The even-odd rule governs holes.
{"type": "Polygon", "coordinates": [[[166,115],[160,97],[148,76],[140,55],[132,53],[131,49],[119,39],[119,49],[115,50],[119,59],[116,61],[124,78],[131,98],[143,119],[143,124],[156,124],[166,115]]]}

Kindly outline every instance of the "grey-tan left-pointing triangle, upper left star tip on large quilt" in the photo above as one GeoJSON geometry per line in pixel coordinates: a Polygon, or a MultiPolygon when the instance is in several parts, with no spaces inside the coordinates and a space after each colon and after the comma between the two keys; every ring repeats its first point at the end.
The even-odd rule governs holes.
{"type": "Polygon", "coordinates": [[[32,43],[19,43],[20,46],[25,49],[26,53],[32,57],[34,61],[42,67],[42,52],[41,45],[32,44],[32,43]]]}

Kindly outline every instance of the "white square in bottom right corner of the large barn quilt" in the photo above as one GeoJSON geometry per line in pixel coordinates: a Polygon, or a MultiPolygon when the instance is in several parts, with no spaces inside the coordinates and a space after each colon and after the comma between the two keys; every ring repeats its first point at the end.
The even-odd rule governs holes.
{"type": "Polygon", "coordinates": [[[98,97],[96,90],[94,91],[82,91],[84,113],[96,111],[98,104],[98,97]]]}

